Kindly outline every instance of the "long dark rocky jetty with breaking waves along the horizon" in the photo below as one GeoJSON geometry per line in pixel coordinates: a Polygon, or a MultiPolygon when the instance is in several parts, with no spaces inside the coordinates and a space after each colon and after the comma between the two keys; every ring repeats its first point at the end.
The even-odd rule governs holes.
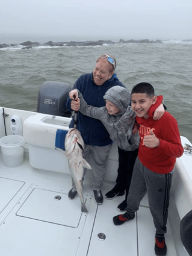
{"type": "MultiPolygon", "coordinates": [[[[38,42],[31,42],[31,41],[26,41],[23,43],[20,43],[20,46],[24,46],[22,49],[31,49],[33,47],[37,46],[58,46],[58,47],[69,47],[69,46],[102,46],[102,45],[114,45],[116,43],[163,43],[161,40],[156,40],[156,41],[150,41],[149,39],[143,39],[143,40],[123,40],[120,39],[119,42],[113,42],[111,40],[98,40],[98,41],[81,41],[81,42],[76,42],[76,41],[70,41],[70,42],[52,42],[49,41],[47,43],[40,44],[38,42]]],[[[7,45],[6,43],[0,44],[0,48],[9,48],[10,46],[17,46],[16,44],[11,44],[7,45]]]]}

